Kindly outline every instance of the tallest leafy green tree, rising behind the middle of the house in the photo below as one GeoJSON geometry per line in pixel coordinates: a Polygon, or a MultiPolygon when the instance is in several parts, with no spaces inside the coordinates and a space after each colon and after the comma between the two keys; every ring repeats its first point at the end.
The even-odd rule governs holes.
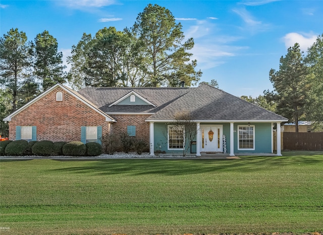
{"type": "Polygon", "coordinates": [[[194,46],[193,38],[182,43],[182,25],[176,24],[168,9],[149,4],[131,30],[138,39],[140,56],[145,58],[140,66],[149,76],[148,86],[180,87],[181,81],[191,86],[199,81],[201,71],[194,70],[196,60],[190,61],[188,52],[194,46]]]}

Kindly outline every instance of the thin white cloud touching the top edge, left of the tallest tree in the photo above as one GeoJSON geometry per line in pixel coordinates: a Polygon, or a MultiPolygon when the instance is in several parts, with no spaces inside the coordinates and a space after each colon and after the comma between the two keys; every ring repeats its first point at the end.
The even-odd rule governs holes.
{"type": "Polygon", "coordinates": [[[74,9],[82,8],[101,8],[116,4],[115,0],[62,0],[60,4],[74,9]]]}

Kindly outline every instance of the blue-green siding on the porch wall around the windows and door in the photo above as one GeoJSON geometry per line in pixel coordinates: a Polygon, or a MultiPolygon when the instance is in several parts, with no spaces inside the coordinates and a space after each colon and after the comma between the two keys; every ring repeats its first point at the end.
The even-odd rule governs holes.
{"type": "MultiPolygon", "coordinates": [[[[230,153],[230,123],[200,123],[200,125],[222,125],[223,134],[227,138],[227,153],[230,153]]],[[[255,149],[254,150],[238,150],[238,125],[248,125],[248,123],[234,123],[234,152],[272,152],[272,123],[252,123],[255,127],[255,149]]],[[[168,150],[168,123],[154,123],[154,150],[165,151],[167,153],[181,153],[182,150],[168,150]]],[[[196,141],[196,139],[195,139],[196,141]]],[[[188,144],[188,143],[187,143],[188,144]]],[[[188,146],[188,145],[186,145],[188,146]]],[[[195,152],[196,147],[192,147],[195,152]]],[[[190,149],[187,151],[190,152],[190,149]]]]}

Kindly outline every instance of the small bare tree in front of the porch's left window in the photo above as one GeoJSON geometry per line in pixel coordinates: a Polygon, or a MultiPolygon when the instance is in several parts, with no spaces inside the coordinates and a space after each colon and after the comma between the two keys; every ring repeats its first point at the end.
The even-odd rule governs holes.
{"type": "Polygon", "coordinates": [[[173,130],[178,131],[179,133],[183,132],[183,156],[186,155],[190,143],[196,137],[196,122],[192,114],[188,111],[181,111],[174,115],[175,122],[173,123],[173,130]]]}

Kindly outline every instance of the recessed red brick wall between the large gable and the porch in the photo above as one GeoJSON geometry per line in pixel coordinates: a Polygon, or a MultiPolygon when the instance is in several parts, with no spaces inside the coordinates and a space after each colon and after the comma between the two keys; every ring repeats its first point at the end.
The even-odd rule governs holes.
{"type": "Polygon", "coordinates": [[[120,134],[127,132],[127,126],[136,126],[136,137],[144,139],[149,143],[149,122],[145,120],[150,116],[149,115],[110,115],[117,120],[116,123],[111,125],[111,129],[114,133],[120,134]]]}

